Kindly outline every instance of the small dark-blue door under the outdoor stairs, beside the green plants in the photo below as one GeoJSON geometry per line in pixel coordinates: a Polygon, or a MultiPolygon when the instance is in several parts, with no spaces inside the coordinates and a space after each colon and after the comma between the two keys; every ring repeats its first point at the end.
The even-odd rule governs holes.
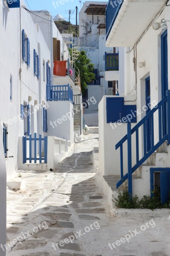
{"type": "Polygon", "coordinates": [[[170,172],[160,172],[161,204],[169,200],[170,172]]]}

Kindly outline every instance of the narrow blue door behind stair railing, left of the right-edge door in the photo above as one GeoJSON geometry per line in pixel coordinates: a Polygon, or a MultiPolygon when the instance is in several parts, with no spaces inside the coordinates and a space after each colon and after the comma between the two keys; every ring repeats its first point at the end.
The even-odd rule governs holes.
{"type": "MultiPolygon", "coordinates": [[[[146,114],[150,112],[150,76],[146,79],[146,114]]],[[[147,152],[151,149],[151,117],[146,122],[147,152]]]]}

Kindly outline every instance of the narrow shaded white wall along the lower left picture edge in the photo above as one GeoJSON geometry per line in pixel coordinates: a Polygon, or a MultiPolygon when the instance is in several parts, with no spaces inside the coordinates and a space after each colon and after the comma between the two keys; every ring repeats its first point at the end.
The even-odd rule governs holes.
{"type": "MultiPolygon", "coordinates": [[[[3,149],[3,136],[0,125],[0,244],[6,244],[6,163],[3,149]]],[[[0,247],[0,256],[6,251],[0,247]]]]}

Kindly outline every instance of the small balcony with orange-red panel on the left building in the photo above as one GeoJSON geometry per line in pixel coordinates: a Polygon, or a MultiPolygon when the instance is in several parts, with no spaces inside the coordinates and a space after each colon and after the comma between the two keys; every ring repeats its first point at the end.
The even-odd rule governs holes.
{"type": "Polygon", "coordinates": [[[68,61],[54,61],[54,82],[57,84],[75,83],[75,70],[68,61]]]}

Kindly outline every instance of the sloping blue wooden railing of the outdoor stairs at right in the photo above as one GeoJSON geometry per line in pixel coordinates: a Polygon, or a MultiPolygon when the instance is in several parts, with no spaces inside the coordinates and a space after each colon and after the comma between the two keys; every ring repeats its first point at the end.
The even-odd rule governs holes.
{"type": "MultiPolygon", "coordinates": [[[[121,179],[117,183],[117,188],[122,185],[122,183],[128,179],[128,192],[132,195],[132,174],[136,169],[141,166],[148,157],[153,154],[156,149],[158,149],[165,141],[170,144],[170,90],[167,91],[167,95],[162,99],[155,108],[153,108],[146,116],[131,129],[131,124],[127,124],[127,135],[122,138],[117,144],[116,149],[120,148],[120,172],[121,179]],[[154,114],[156,112],[156,114],[154,114]],[[154,119],[159,118],[158,120],[158,134],[159,141],[154,142],[154,119]],[[150,150],[147,151],[147,124],[150,122],[150,139],[151,146],[150,150]],[[164,124],[166,123],[166,128],[164,124]],[[141,159],[139,159],[139,128],[142,131],[142,140],[144,153],[141,159]],[[136,163],[132,166],[132,134],[136,133],[136,163]],[[127,174],[124,175],[124,166],[123,166],[123,143],[127,141],[127,174]]],[[[135,142],[133,142],[133,147],[135,142]]]]}

